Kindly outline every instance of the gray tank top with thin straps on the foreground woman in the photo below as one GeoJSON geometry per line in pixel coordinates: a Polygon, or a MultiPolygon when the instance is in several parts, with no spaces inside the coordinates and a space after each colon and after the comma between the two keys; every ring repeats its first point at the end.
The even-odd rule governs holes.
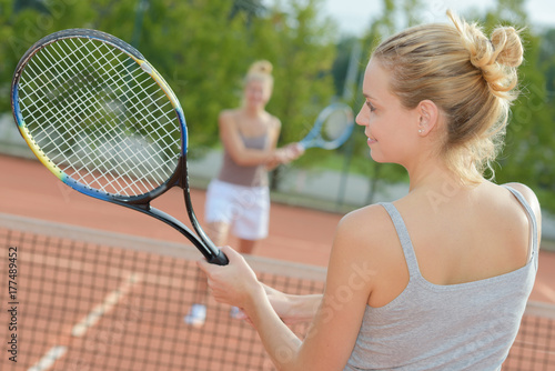
{"type": "Polygon", "coordinates": [[[382,203],[395,224],[408,267],[405,290],[381,308],[366,307],[347,370],[501,370],[513,344],[537,271],[537,224],[528,263],[506,274],[452,285],[426,281],[401,214],[382,203]]]}

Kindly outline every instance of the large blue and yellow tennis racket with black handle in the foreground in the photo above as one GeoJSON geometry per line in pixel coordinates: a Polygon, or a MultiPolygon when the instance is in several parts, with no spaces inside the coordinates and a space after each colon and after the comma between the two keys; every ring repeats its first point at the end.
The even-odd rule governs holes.
{"type": "Polygon", "coordinates": [[[137,49],[95,30],[47,36],[19,61],[11,107],[27,144],[67,186],[161,220],[209,262],[228,263],[194,215],[183,110],[137,49]],[[173,187],[196,234],[150,205],[173,187]]]}

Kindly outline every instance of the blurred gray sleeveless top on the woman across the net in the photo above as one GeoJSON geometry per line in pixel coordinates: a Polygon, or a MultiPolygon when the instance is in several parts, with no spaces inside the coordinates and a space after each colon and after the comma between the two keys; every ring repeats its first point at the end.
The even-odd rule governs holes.
{"type": "MultiPolygon", "coordinates": [[[[254,138],[245,138],[240,133],[245,148],[262,150],[268,144],[268,134],[254,138]]],[[[268,171],[264,164],[243,167],[231,158],[228,150],[223,150],[223,164],[218,179],[236,186],[266,187],[268,171]]]]}

